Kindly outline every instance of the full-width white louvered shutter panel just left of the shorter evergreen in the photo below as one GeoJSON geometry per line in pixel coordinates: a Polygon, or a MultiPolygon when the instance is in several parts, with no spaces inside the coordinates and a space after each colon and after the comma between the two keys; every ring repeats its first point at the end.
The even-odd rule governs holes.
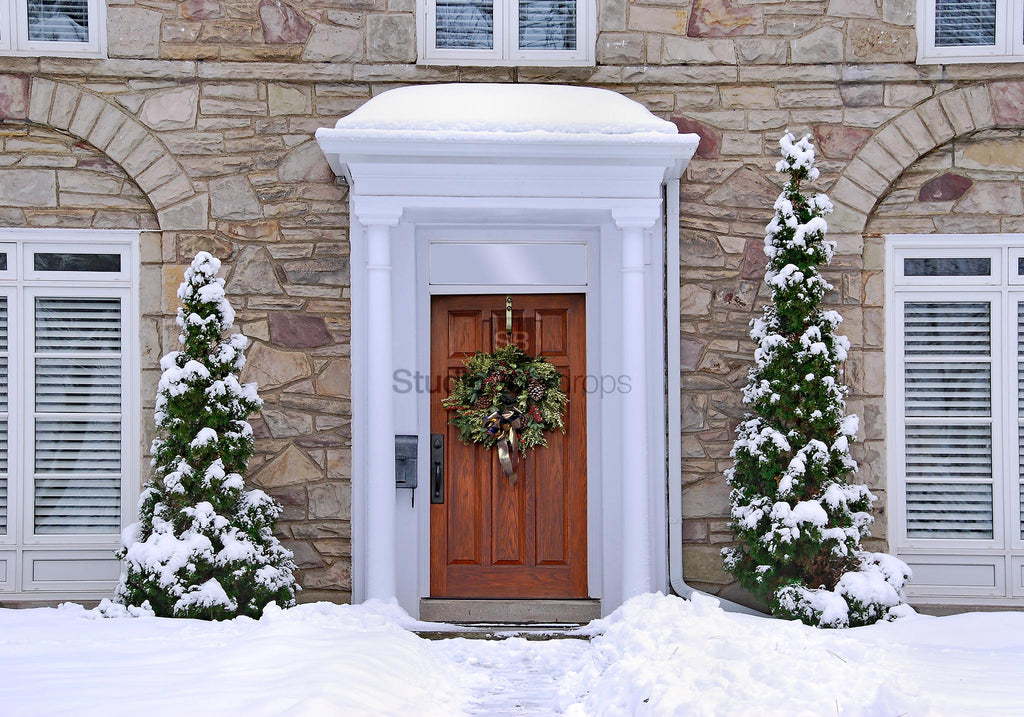
{"type": "Polygon", "coordinates": [[[112,534],[121,513],[121,300],[35,300],[35,533],[112,534]]]}

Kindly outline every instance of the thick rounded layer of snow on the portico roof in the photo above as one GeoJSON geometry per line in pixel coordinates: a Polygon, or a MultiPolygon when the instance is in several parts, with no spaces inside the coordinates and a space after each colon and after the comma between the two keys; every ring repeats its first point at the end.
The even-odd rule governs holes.
{"type": "Polygon", "coordinates": [[[676,126],[617,92],[525,84],[419,85],[388,90],[321,136],[434,141],[689,143],[676,126]]]}

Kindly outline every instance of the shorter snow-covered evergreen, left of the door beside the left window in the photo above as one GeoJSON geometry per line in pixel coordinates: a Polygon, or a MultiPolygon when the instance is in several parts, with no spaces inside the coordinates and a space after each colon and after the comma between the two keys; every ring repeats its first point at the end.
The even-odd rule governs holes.
{"type": "Polygon", "coordinates": [[[160,362],[155,476],[118,553],[118,600],[160,617],[256,618],[295,601],[292,553],[273,536],[281,507],[242,479],[253,454],[246,419],[262,402],[256,384],[239,383],[248,339],[226,335],[234,311],[219,268],[200,252],[178,289],[182,348],[160,362]]]}

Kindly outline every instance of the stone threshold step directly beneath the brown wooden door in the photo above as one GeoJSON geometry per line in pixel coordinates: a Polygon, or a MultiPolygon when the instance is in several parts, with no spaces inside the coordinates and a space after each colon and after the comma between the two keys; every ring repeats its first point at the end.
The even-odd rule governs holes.
{"type": "Polygon", "coordinates": [[[583,625],[601,617],[601,601],[507,600],[455,597],[420,599],[420,620],[428,623],[494,623],[512,625],[583,625]]]}

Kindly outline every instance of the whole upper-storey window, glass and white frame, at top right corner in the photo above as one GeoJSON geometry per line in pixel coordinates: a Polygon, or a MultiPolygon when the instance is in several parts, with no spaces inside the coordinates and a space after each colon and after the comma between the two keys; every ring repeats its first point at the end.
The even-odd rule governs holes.
{"type": "Polygon", "coordinates": [[[919,0],[919,61],[1024,61],[1024,8],[1011,0],[919,0]]]}

